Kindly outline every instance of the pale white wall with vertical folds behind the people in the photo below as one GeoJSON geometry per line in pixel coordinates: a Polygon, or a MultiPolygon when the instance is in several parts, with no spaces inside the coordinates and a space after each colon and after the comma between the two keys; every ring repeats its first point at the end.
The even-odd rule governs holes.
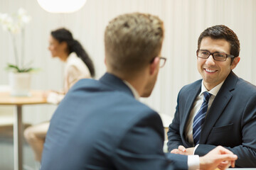
{"type": "MultiPolygon", "coordinates": [[[[115,16],[134,11],[155,14],[165,23],[162,55],[168,60],[153,94],[142,99],[161,114],[174,115],[179,89],[200,78],[196,69],[197,39],[210,26],[224,24],[237,33],[241,60],[234,71],[256,84],[255,0],[87,0],[80,11],[70,14],[47,13],[36,0],[0,0],[1,13],[12,13],[19,7],[32,17],[26,26],[26,61],[33,60],[33,66],[41,68],[33,75],[33,89],[60,89],[63,84],[63,64],[50,58],[47,50],[50,30],[65,26],[73,32],[92,57],[98,79],[105,72],[105,26],[115,16]]],[[[14,62],[10,40],[8,33],[0,29],[0,84],[8,84],[6,62],[14,62]]],[[[55,106],[26,106],[24,120],[48,120],[54,109],[55,106]]]]}

